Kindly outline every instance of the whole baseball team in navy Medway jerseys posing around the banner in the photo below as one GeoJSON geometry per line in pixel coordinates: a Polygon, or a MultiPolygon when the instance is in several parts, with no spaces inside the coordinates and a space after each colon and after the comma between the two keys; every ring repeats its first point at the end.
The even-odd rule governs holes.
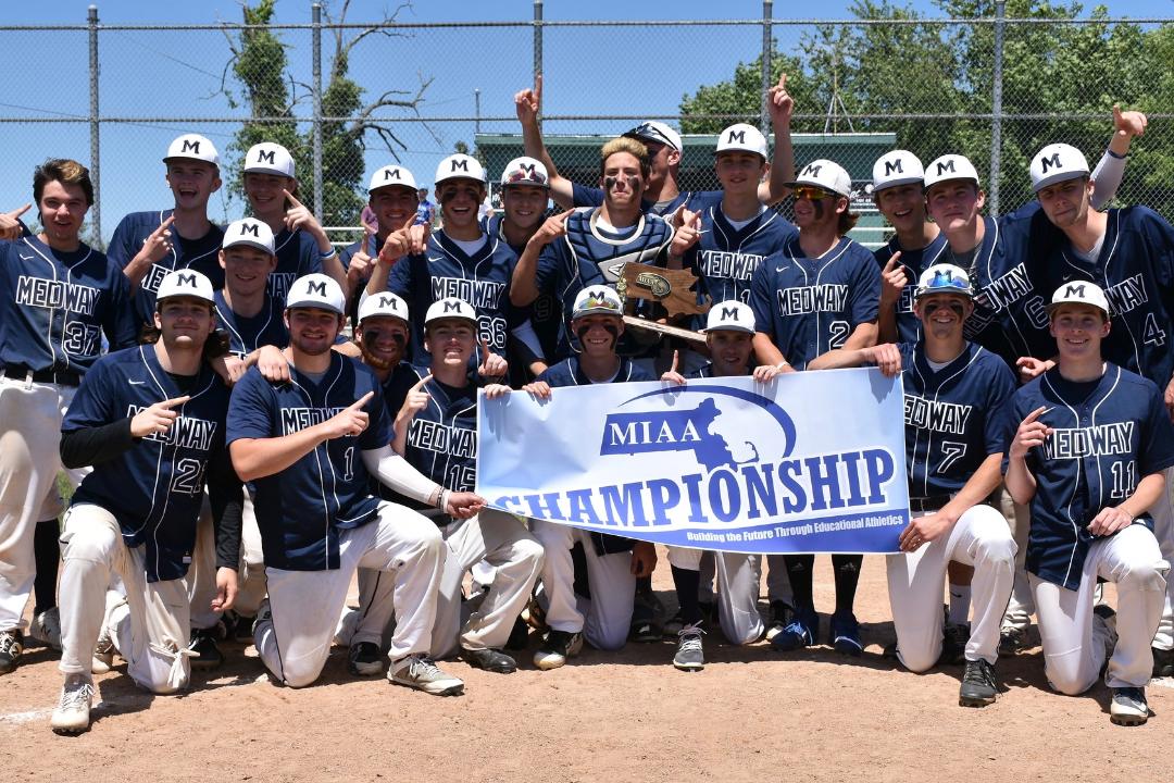
{"type": "Polygon", "coordinates": [[[244,155],[249,217],[212,223],[225,173],[197,134],[163,156],[174,204],[127,215],[104,254],[81,239],[94,190],[76,161],[45,161],[33,201],[0,214],[0,675],[27,643],[60,650],[54,731],[89,729],[116,657],[171,694],[225,641],[286,687],[337,644],[352,675],[434,695],[465,687],[438,661],[510,674],[532,649],[549,670],[585,642],[675,636],[684,671],[716,633],[861,655],[863,555],[831,555],[822,627],[814,554],[668,547],[667,616],[650,544],[475,492],[479,394],[855,366],[904,384],[911,521],[884,556],[885,654],[962,664],[959,703],[987,706],[1034,615],[1054,690],[1104,679],[1113,723],[1148,720],[1151,677],[1174,675],[1174,228],[1107,208],[1143,115],[1113,109],[1095,168],[1044,147],[1035,198],[1000,216],[966,157],[885,154],[864,194],[895,234],[872,251],[848,236],[868,196],[844,168],[796,174],[785,76],[774,149],[722,130],[713,191],[680,189],[681,136],[656,121],[572,182],[542,142],[541,83],[514,103],[526,156],[499,214],[479,214],[474,157],[440,161],[438,210],[385,166],[342,250],[276,143],[244,155]],[[618,291],[634,263],[690,270],[708,312],[618,291]]]}

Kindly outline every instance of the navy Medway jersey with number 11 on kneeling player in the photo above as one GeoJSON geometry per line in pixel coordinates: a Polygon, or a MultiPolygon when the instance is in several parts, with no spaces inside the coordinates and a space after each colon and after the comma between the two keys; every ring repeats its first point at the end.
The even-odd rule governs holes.
{"type": "MultiPolygon", "coordinates": [[[[1020,387],[1005,409],[1004,444],[1039,407],[1048,409],[1038,420],[1053,432],[1027,452],[1035,495],[1026,565],[1075,589],[1094,540],[1088,524],[1128,499],[1141,479],[1174,465],[1174,425],[1154,382],[1112,363],[1097,380],[1072,383],[1053,367],[1020,387]]],[[[1153,527],[1148,514],[1135,524],[1153,527]]]]}

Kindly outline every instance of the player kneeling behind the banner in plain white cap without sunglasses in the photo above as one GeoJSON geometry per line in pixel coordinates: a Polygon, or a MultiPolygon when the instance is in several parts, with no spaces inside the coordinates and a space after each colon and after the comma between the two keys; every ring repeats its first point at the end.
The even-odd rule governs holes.
{"type": "MultiPolygon", "coordinates": [[[[677,356],[673,356],[673,369],[661,376],[661,380],[686,384],[690,378],[729,378],[751,374],[750,357],[754,352],[754,311],[737,301],[720,302],[709,309],[706,319],[706,345],[710,362],[688,376],[676,371],[677,356]]],[[[755,380],[765,383],[780,373],[772,365],[763,365],[753,371],[755,380]]],[[[676,655],[673,666],[682,671],[699,671],[706,666],[701,642],[702,610],[697,599],[701,587],[701,549],[687,547],[668,548],[668,561],[673,568],[673,583],[682,628],[677,633],[676,655]]],[[[722,633],[735,644],[757,641],[765,627],[758,615],[758,581],[761,578],[757,555],[737,552],[716,554],[717,619],[722,633]]]]}

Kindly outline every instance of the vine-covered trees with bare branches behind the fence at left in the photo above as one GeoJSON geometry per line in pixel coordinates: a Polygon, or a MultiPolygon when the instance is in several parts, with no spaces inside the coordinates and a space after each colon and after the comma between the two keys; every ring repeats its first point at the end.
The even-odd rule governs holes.
{"type": "MultiPolygon", "coordinates": [[[[244,5],[244,23],[261,27],[248,27],[229,36],[232,58],[225,75],[231,72],[239,94],[228,87],[227,79],[223,92],[231,106],[247,104],[252,119],[241,127],[228,151],[230,157],[239,161],[249,147],[262,141],[277,142],[288,148],[298,174],[299,200],[309,204],[313,201],[313,128],[303,123],[303,129],[298,129],[295,107],[306,103],[312,95],[289,75],[285,45],[274,31],[263,27],[272,21],[276,5],[277,0],[244,5]]],[[[338,25],[326,31],[332,38],[333,52],[322,94],[325,117],[322,123],[322,218],[326,223],[355,224],[359,220],[365,203],[358,194],[369,135],[377,137],[396,160],[399,160],[400,150],[407,149],[390,126],[372,119],[376,113],[383,108],[416,112],[432,83],[431,77],[421,77],[413,90],[391,89],[365,101],[364,88],[349,75],[351,52],[360,41],[377,33],[390,38],[402,35],[382,25],[393,21],[405,7],[409,6],[399,6],[378,23],[356,29],[340,27],[346,21],[350,0],[342,2],[337,18],[331,15],[328,4],[323,4],[324,21],[338,25]]],[[[231,171],[228,181],[231,193],[243,198],[239,168],[228,167],[231,171]]]]}

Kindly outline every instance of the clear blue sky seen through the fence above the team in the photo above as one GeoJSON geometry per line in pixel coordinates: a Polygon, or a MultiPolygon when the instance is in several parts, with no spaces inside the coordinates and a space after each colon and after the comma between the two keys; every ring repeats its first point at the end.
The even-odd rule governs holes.
{"type": "MultiPolygon", "coordinates": [[[[6,4],[7,25],[81,25],[87,6],[82,0],[56,0],[40,5],[6,4]]],[[[104,25],[216,23],[239,21],[236,0],[204,2],[147,2],[107,0],[99,2],[104,25]]],[[[335,4],[339,5],[339,4],[335,4]]],[[[367,21],[394,8],[394,0],[355,0],[349,21],[367,21]]],[[[776,0],[774,16],[821,19],[850,18],[849,0],[822,0],[792,4],[776,0]]],[[[932,2],[912,0],[926,15],[940,15],[932,2]]],[[[1111,15],[1170,16],[1174,0],[1129,0],[1109,2],[1111,15]]],[[[1091,4],[1088,4],[1091,6],[1091,4]]],[[[569,2],[547,0],[547,20],[655,20],[655,19],[754,19],[761,15],[758,0],[679,0],[670,4],[633,4],[630,0],[569,2]]],[[[497,2],[416,2],[404,9],[405,22],[526,21],[532,18],[532,0],[497,2]]],[[[279,0],[277,20],[286,23],[310,21],[310,2],[279,0]]],[[[728,77],[738,61],[753,60],[761,46],[761,28],[549,28],[545,39],[547,114],[673,114],[682,94],[699,85],[728,77]],[[688,52],[682,60],[680,52],[688,52]],[[649,66],[649,61],[654,65],[649,66]],[[636,65],[636,63],[640,65],[636,65]],[[591,74],[599,74],[593,76],[591,74]],[[587,74],[587,75],[585,75],[587,74]],[[622,97],[618,95],[622,93],[622,97]]],[[[776,28],[776,38],[787,46],[799,34],[795,27],[776,28]]],[[[301,31],[282,34],[291,49],[295,80],[309,81],[309,36],[301,31]]],[[[439,160],[452,151],[456,141],[472,143],[474,90],[480,90],[484,117],[512,117],[513,93],[529,83],[532,34],[528,28],[443,29],[418,33],[411,40],[369,39],[353,53],[352,75],[370,93],[390,87],[414,87],[419,77],[432,77],[421,112],[427,116],[458,117],[438,122],[426,131],[419,124],[399,123],[397,129],[407,149],[402,161],[421,182],[431,182],[439,160]]],[[[27,63],[18,69],[0,96],[0,117],[88,115],[86,34],[83,32],[0,32],[0,46],[9,63],[27,63]],[[46,49],[53,52],[45,56],[46,49]]],[[[324,53],[331,50],[329,39],[324,53]]],[[[160,157],[170,139],[185,131],[203,133],[223,150],[235,126],[209,122],[215,116],[241,116],[223,96],[217,95],[221,73],[228,58],[224,36],[207,32],[109,32],[100,36],[102,114],[136,120],[102,128],[102,232],[107,237],[117,220],[128,211],[168,205],[170,194],[162,177],[160,157]],[[173,123],[146,117],[187,117],[173,123]]],[[[298,114],[309,114],[306,103],[298,114]]],[[[549,131],[571,133],[581,123],[552,123],[549,131]]],[[[629,120],[596,122],[591,131],[619,131],[629,120]]],[[[485,122],[483,130],[513,133],[513,121],[485,122]]],[[[0,123],[0,208],[12,209],[29,200],[32,168],[50,156],[76,157],[89,162],[89,130],[85,123],[0,123]]],[[[391,162],[375,140],[369,144],[367,171],[391,162]]],[[[227,197],[227,189],[214,198],[215,218],[236,217],[242,205],[227,197]]]]}

